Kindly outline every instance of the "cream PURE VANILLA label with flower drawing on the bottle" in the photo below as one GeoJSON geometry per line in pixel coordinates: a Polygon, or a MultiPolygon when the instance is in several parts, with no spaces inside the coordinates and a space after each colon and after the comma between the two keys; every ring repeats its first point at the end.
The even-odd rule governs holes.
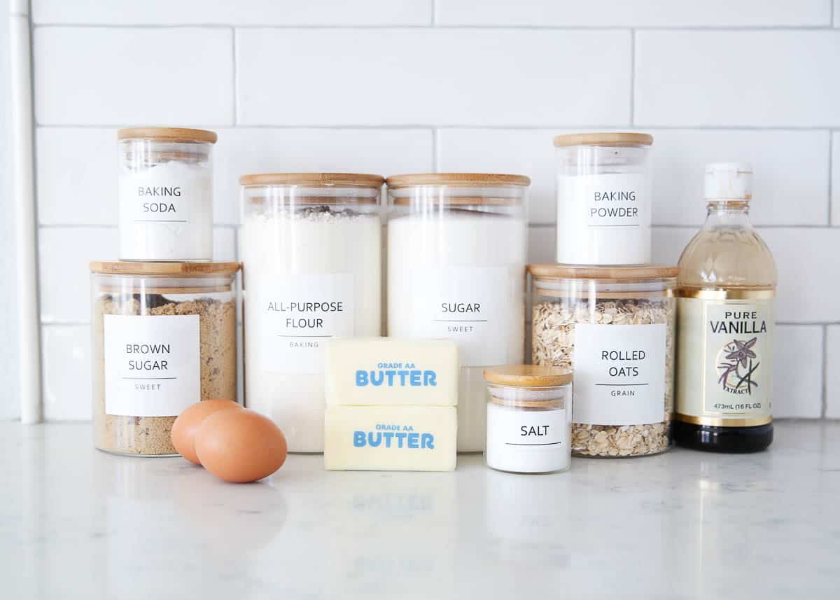
{"type": "Polygon", "coordinates": [[[680,297],[677,418],[748,427],[772,413],[773,299],[680,297]]]}

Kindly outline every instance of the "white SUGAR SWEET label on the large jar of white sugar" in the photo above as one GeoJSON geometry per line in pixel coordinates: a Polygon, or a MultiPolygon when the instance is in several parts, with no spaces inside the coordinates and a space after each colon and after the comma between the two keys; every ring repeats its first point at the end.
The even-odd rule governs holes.
{"type": "Polygon", "coordinates": [[[510,271],[504,267],[449,267],[417,272],[413,337],[446,338],[458,344],[461,366],[500,365],[512,331],[510,271]],[[507,308],[507,312],[506,309],[507,308]]]}

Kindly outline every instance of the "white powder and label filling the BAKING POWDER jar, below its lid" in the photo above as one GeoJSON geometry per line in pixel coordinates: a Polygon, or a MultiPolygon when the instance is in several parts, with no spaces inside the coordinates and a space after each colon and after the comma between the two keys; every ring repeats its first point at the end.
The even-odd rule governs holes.
{"type": "Polygon", "coordinates": [[[643,174],[558,178],[558,262],[648,263],[650,222],[650,190],[643,174]]]}

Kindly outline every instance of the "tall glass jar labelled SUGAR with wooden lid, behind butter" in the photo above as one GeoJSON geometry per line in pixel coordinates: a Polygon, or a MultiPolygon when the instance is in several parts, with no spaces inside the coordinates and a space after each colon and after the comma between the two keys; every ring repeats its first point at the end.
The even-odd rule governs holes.
{"type": "Polygon", "coordinates": [[[480,173],[387,181],[388,335],[458,343],[461,452],[484,450],[484,368],[523,361],[530,182],[480,173]]]}

